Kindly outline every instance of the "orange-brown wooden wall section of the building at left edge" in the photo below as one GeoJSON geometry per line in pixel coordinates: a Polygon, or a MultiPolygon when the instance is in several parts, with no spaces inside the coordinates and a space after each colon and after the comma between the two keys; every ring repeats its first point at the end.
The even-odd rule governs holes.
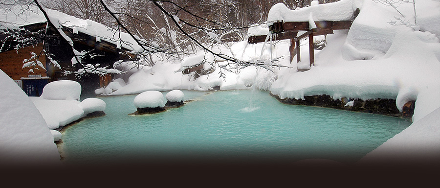
{"type": "MultiPolygon", "coordinates": [[[[39,67],[39,70],[34,69],[34,72],[28,72],[29,68],[23,67],[23,60],[29,59],[32,55],[31,52],[40,53],[43,50],[43,43],[40,43],[34,47],[24,47],[17,50],[9,50],[0,53],[0,69],[4,71],[13,80],[20,80],[21,77],[28,77],[28,75],[41,74],[41,76],[47,76],[46,71],[39,67]]],[[[42,55],[40,62],[46,67],[46,57],[42,55]]]]}

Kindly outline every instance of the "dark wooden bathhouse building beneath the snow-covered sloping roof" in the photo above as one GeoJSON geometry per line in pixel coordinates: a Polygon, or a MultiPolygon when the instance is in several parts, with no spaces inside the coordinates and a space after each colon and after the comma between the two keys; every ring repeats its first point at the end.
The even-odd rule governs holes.
{"type": "MultiPolygon", "coordinates": [[[[22,89],[29,96],[39,96],[42,94],[45,84],[56,80],[75,80],[78,81],[82,86],[82,95],[91,96],[94,95],[94,90],[107,86],[111,80],[111,74],[105,76],[99,76],[97,74],[87,74],[81,77],[75,76],[74,73],[66,75],[65,71],[78,71],[81,69],[80,66],[72,65],[71,59],[73,58],[73,50],[70,45],[61,38],[61,35],[54,29],[49,28],[45,34],[44,32],[37,32],[39,30],[45,29],[46,22],[29,24],[21,26],[22,30],[14,31],[25,33],[22,36],[36,38],[34,43],[28,43],[26,47],[14,49],[16,43],[11,35],[11,32],[0,33],[0,47],[2,47],[0,52],[0,69],[9,75],[13,80],[19,84],[22,89]],[[26,36],[28,35],[28,36],[26,36]],[[3,45],[5,44],[5,45],[3,45]],[[55,67],[48,57],[42,53],[39,61],[43,63],[44,69],[37,67],[34,72],[28,72],[29,68],[23,67],[23,60],[29,59],[31,57],[31,52],[39,54],[45,50],[46,53],[51,54],[50,57],[57,61],[61,69],[55,67]],[[29,83],[37,82],[37,80],[43,81],[45,84],[33,83],[34,86],[28,87],[23,85],[24,82],[29,83]],[[37,86],[38,85],[38,86],[37,86]],[[28,89],[30,88],[30,89],[28,89]],[[38,90],[37,90],[38,88],[38,90]],[[28,93],[27,91],[33,91],[33,93],[28,93]]],[[[134,58],[127,53],[131,51],[130,49],[124,47],[118,47],[116,44],[99,40],[98,37],[88,35],[79,31],[74,31],[73,28],[64,26],[62,28],[64,33],[69,36],[72,41],[74,48],[78,51],[86,51],[86,55],[82,58],[83,64],[92,64],[97,67],[113,67],[113,63],[118,60],[129,60],[134,58]]]]}

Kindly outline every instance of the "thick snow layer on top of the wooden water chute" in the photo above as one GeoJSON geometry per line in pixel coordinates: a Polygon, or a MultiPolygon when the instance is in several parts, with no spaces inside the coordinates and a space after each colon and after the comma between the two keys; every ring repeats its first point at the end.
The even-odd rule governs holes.
{"type": "Polygon", "coordinates": [[[267,21],[308,22],[311,15],[316,21],[347,21],[354,19],[354,11],[362,6],[362,0],[340,0],[290,10],[284,3],[272,6],[267,21]]]}

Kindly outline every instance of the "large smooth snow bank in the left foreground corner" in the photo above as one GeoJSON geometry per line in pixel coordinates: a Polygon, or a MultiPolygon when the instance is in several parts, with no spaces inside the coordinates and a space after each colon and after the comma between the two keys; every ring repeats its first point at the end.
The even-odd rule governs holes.
{"type": "Polygon", "coordinates": [[[29,97],[0,70],[0,165],[56,164],[54,138],[29,97]]]}

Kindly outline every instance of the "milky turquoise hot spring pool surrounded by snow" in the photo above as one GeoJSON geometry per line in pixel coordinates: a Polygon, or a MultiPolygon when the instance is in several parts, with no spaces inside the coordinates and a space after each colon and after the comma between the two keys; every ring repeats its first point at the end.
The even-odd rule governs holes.
{"type": "MultiPolygon", "coordinates": [[[[100,97],[106,116],[66,128],[64,163],[168,159],[328,159],[351,164],[408,127],[406,119],[286,105],[262,91],[183,91],[186,103],[129,116],[136,95],[100,97]]],[[[164,93],[166,94],[166,93],[164,93]]]]}

